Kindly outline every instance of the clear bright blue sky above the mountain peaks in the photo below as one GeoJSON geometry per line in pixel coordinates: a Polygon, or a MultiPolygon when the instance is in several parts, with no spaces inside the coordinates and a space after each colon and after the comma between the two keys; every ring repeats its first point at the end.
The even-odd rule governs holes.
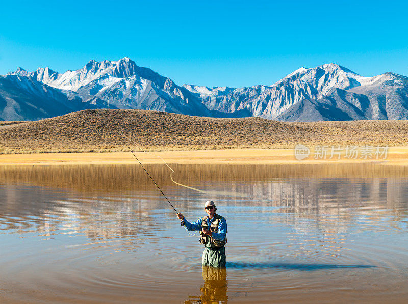
{"type": "Polygon", "coordinates": [[[405,2],[19,1],[0,11],[0,74],[130,57],[184,83],[271,85],[335,62],[408,75],[405,2]]]}

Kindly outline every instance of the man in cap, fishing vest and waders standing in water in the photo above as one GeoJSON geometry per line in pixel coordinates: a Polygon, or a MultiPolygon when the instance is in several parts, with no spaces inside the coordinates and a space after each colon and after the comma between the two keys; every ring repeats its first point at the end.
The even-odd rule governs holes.
{"type": "Polygon", "coordinates": [[[182,225],[188,231],[198,230],[200,232],[200,243],[205,245],[202,253],[202,265],[212,267],[225,267],[225,247],[226,244],[226,220],[215,213],[217,208],[213,201],[207,201],[204,205],[207,216],[199,218],[197,222],[190,223],[183,214],[177,216],[182,220],[182,225]]]}

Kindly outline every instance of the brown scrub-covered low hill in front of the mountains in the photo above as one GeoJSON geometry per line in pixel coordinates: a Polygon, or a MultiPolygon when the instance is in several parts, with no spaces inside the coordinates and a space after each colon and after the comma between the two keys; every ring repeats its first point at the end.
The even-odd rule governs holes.
{"type": "Polygon", "coordinates": [[[0,154],[127,151],[119,132],[150,151],[293,148],[298,143],[408,146],[407,121],[276,122],[98,109],[2,126],[0,154]]]}

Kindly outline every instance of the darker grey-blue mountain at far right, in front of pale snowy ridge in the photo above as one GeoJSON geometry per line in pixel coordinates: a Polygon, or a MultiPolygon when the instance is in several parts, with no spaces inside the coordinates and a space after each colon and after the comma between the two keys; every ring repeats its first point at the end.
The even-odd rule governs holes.
{"type": "Polygon", "coordinates": [[[328,121],[408,119],[408,77],[385,73],[359,78],[360,86],[332,89],[318,99],[304,99],[276,120],[328,121]]]}

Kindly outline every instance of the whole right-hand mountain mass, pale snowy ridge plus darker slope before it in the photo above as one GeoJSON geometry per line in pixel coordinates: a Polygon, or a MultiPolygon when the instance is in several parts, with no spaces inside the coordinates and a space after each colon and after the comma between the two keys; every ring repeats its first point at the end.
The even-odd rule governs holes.
{"type": "Polygon", "coordinates": [[[387,78],[390,76],[386,74],[364,77],[330,63],[316,68],[302,67],[271,86],[228,90],[225,90],[225,87],[212,89],[193,85],[184,87],[200,96],[209,109],[230,113],[246,109],[251,116],[267,119],[309,121],[388,119],[388,117],[401,119],[405,117],[405,95],[401,90],[399,91],[402,93],[395,92],[395,89],[397,85],[406,88],[403,80],[406,77],[399,75],[403,79],[394,77],[392,82],[387,78]],[[339,90],[346,92],[340,93],[339,90]],[[382,96],[388,91],[390,92],[386,96],[382,96]],[[350,95],[347,92],[357,95],[350,95]],[[381,98],[388,98],[387,105],[381,104],[379,101],[381,98]],[[369,106],[367,102],[370,103],[369,106]],[[362,104],[363,108],[359,109],[362,104]]]}

